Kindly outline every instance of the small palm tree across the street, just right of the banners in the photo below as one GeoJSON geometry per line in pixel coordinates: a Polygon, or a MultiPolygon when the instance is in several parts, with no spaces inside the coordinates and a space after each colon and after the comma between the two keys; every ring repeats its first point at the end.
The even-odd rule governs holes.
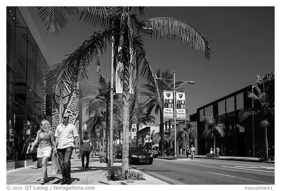
{"type": "MultiPolygon", "coordinates": [[[[196,138],[196,133],[191,129],[192,125],[188,122],[181,122],[177,124],[177,137],[180,137],[184,144],[185,152],[184,156],[186,156],[186,145],[189,145],[190,139],[196,138]]],[[[177,140],[179,140],[177,138],[177,140]]]]}

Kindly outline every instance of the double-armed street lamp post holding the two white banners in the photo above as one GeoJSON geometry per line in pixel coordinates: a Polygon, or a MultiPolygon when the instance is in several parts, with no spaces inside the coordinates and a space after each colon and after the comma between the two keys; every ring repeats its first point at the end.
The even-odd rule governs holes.
{"type": "MultiPolygon", "coordinates": [[[[173,112],[173,117],[174,117],[174,141],[175,141],[175,148],[174,148],[174,152],[175,152],[175,156],[177,156],[177,136],[176,136],[176,90],[179,89],[183,84],[185,84],[186,82],[188,84],[195,84],[195,82],[193,81],[182,81],[182,80],[176,80],[175,79],[175,70],[174,70],[174,87],[171,87],[165,80],[172,80],[172,79],[165,79],[165,78],[158,78],[155,74],[155,78],[156,79],[160,79],[162,80],[168,87],[170,87],[171,89],[173,89],[173,94],[174,94],[174,112],[173,112]],[[181,86],[177,87],[176,88],[176,81],[180,81],[180,82],[183,82],[181,84],[181,86]]],[[[170,127],[169,127],[170,128],[170,127]]]]}

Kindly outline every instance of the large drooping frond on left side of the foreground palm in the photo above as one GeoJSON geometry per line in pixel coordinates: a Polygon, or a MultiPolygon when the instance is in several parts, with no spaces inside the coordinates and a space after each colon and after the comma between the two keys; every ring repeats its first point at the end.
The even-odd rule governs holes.
{"type": "Polygon", "coordinates": [[[77,82],[87,79],[88,66],[92,59],[106,49],[106,40],[110,32],[95,33],[90,40],[86,40],[78,50],[69,55],[61,63],[56,64],[40,81],[46,93],[59,101],[60,97],[68,95],[65,84],[70,89],[77,87],[77,82]]]}

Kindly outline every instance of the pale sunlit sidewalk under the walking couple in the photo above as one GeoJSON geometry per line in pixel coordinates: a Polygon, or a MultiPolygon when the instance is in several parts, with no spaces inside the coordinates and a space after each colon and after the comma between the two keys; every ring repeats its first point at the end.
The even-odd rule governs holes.
{"type": "MultiPolygon", "coordinates": [[[[51,162],[49,162],[51,164],[51,162]]],[[[113,167],[106,163],[100,163],[99,158],[90,157],[89,170],[83,171],[81,168],[80,159],[71,159],[71,184],[72,185],[124,185],[124,184],[146,184],[146,185],[161,185],[167,184],[148,174],[144,174],[145,180],[138,181],[108,181],[106,175],[111,168],[122,166],[121,162],[114,162],[113,167]]],[[[39,185],[41,177],[41,168],[31,169],[32,166],[23,167],[6,172],[7,185],[39,185]]],[[[134,169],[135,170],[135,169],[134,169]]],[[[137,171],[137,170],[135,170],[137,171]]],[[[47,167],[49,182],[45,185],[60,185],[62,181],[61,173],[51,174],[51,165],[47,167]]]]}

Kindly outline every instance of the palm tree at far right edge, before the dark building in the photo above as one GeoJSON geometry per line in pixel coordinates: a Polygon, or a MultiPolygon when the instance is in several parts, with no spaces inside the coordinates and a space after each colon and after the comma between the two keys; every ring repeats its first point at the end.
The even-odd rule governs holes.
{"type": "MultiPolygon", "coordinates": [[[[259,76],[258,76],[259,77],[259,76]]],[[[274,76],[273,76],[274,78],[274,76]]],[[[248,91],[248,98],[251,98],[255,101],[253,108],[247,108],[241,111],[240,113],[240,121],[244,121],[249,116],[258,116],[261,119],[260,126],[264,129],[264,143],[265,143],[265,157],[268,157],[268,146],[267,146],[267,127],[270,125],[270,120],[274,119],[274,83],[273,81],[268,81],[269,85],[267,87],[263,87],[264,91],[258,86],[254,86],[256,89],[256,93],[252,93],[248,91]],[[271,86],[270,86],[271,85],[271,86]]],[[[263,80],[261,81],[263,85],[263,80]]],[[[261,85],[258,83],[257,85],[261,85]]]]}

